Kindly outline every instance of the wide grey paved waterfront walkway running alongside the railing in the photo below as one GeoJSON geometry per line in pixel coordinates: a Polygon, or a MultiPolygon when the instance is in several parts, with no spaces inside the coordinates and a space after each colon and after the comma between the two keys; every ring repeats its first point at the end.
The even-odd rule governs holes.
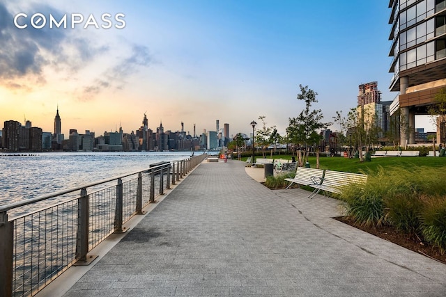
{"type": "Polygon", "coordinates": [[[445,264],[244,166],[201,163],[65,296],[445,296],[445,264]]]}

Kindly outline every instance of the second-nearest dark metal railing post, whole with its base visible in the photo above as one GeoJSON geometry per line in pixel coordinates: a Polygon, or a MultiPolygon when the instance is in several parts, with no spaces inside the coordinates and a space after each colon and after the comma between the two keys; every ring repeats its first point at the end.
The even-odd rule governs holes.
{"type": "Polygon", "coordinates": [[[86,188],[82,188],[77,202],[76,258],[79,263],[87,262],[86,254],[89,252],[89,204],[86,188]]]}

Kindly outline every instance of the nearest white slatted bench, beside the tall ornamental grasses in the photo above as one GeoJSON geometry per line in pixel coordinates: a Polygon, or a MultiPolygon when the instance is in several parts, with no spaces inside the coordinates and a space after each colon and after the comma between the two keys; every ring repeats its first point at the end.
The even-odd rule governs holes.
{"type": "Polygon", "coordinates": [[[362,175],[360,173],[325,170],[324,175],[320,180],[321,182],[319,183],[315,182],[314,184],[308,185],[314,188],[314,191],[308,196],[308,198],[313,198],[320,191],[341,193],[341,188],[343,186],[348,186],[351,184],[365,184],[367,182],[367,175],[362,175]]]}

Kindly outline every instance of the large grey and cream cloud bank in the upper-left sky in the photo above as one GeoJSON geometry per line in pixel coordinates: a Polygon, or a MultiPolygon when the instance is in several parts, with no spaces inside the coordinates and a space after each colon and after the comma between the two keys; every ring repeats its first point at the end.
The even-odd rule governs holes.
{"type": "Polygon", "coordinates": [[[67,93],[77,93],[80,101],[87,101],[108,88],[125,88],[129,77],[153,62],[148,47],[127,40],[114,46],[116,40],[109,38],[109,33],[107,39],[101,39],[105,32],[49,28],[49,15],[56,20],[65,15],[57,8],[38,3],[20,9],[11,5],[0,0],[0,86],[29,92],[47,83],[47,73],[56,72],[66,81],[76,82],[66,89],[67,93]],[[16,28],[17,12],[28,14],[19,22],[27,24],[26,29],[16,28]],[[42,29],[30,23],[31,15],[37,12],[47,17],[42,29]],[[95,77],[95,73],[99,74],[95,77]]]}

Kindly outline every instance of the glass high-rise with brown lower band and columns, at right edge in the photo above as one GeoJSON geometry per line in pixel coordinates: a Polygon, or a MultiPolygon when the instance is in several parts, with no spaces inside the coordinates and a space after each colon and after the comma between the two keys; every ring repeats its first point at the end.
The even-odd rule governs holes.
{"type": "Polygon", "coordinates": [[[446,0],[390,0],[389,8],[390,90],[399,92],[392,111],[401,113],[405,145],[415,143],[415,115],[426,114],[426,106],[446,88],[446,0]]]}

